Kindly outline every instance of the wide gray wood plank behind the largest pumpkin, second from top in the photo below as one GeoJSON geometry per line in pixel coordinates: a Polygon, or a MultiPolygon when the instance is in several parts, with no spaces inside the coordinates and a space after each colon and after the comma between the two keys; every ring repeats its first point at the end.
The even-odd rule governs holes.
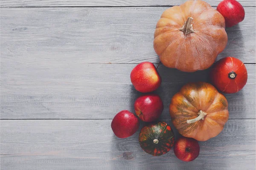
{"type": "MultiPolygon", "coordinates": [[[[158,63],[154,29],[168,7],[4,8],[1,62],[158,63]]],[[[255,63],[256,7],[245,8],[238,26],[227,28],[227,56],[255,63]]]]}

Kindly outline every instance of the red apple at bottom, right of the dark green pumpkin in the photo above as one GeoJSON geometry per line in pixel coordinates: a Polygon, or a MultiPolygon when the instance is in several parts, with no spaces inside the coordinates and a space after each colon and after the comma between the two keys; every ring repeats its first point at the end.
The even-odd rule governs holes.
{"type": "Polygon", "coordinates": [[[182,137],[175,141],[173,150],[177,158],[189,162],[198,157],[200,147],[197,140],[182,137]]]}

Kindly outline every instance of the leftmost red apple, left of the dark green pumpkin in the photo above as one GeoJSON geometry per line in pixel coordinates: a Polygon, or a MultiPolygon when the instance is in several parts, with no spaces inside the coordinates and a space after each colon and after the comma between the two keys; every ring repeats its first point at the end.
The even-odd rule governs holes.
{"type": "Polygon", "coordinates": [[[128,110],[117,113],[111,122],[113,133],[118,138],[127,138],[133,135],[140,126],[140,120],[128,110]]]}

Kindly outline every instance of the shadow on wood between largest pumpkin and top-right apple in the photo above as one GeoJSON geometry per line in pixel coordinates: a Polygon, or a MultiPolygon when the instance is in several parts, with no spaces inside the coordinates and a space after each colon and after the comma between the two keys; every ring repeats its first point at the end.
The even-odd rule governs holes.
{"type": "Polygon", "coordinates": [[[230,28],[226,28],[225,29],[227,32],[227,46],[226,48],[223,50],[223,52],[221,52],[218,57],[217,57],[217,61],[221,58],[225,58],[225,57],[235,57],[238,59],[243,59],[244,56],[246,55],[246,47],[244,45],[244,40],[243,40],[243,35],[240,29],[240,23],[236,26],[230,27],[230,28]],[[241,51],[239,51],[239,53],[237,52],[236,49],[241,49],[241,51]]]}

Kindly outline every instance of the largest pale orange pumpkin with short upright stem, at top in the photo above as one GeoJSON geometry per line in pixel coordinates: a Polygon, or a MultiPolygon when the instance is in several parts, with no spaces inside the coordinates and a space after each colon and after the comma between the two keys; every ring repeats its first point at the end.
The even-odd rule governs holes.
{"type": "Polygon", "coordinates": [[[224,17],[202,0],[166,9],[154,32],[160,61],[184,72],[209,68],[226,45],[224,17]]]}

